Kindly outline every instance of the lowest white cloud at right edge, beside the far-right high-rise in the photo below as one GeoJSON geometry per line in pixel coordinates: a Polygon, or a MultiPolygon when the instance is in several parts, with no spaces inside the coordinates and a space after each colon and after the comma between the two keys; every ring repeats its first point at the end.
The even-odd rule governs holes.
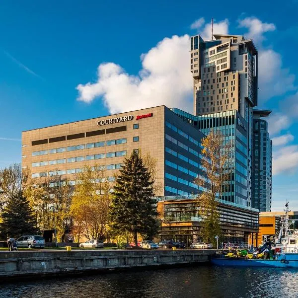
{"type": "Polygon", "coordinates": [[[295,173],[298,167],[298,145],[286,146],[273,153],[272,174],[295,173]]]}

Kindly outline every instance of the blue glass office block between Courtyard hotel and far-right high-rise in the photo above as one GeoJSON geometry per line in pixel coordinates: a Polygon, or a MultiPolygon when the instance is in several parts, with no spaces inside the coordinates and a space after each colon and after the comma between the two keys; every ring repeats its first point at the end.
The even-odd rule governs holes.
{"type": "Polygon", "coordinates": [[[231,144],[228,160],[230,177],[223,187],[221,198],[226,202],[251,207],[251,183],[248,170],[248,126],[243,117],[235,110],[193,116],[177,108],[172,109],[179,117],[205,135],[219,132],[224,144],[231,144]]]}

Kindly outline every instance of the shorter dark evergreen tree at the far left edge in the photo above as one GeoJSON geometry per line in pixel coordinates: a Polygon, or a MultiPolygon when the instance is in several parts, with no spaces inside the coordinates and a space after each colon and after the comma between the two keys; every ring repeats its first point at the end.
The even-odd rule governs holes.
{"type": "Polygon", "coordinates": [[[23,234],[36,232],[35,216],[29,201],[21,192],[8,200],[1,219],[0,230],[7,237],[17,238],[23,234]]]}

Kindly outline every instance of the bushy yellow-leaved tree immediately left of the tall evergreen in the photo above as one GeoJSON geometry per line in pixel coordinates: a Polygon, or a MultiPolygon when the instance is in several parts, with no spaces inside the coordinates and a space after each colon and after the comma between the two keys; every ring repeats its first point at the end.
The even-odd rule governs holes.
{"type": "Polygon", "coordinates": [[[88,239],[104,239],[107,236],[111,194],[105,171],[100,166],[85,167],[77,175],[71,205],[77,241],[81,235],[88,239]]]}

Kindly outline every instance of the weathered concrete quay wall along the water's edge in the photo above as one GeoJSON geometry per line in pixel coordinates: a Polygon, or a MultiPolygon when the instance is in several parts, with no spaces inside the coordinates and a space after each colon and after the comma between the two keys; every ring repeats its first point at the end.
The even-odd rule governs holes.
{"type": "Polygon", "coordinates": [[[0,281],[93,271],[207,263],[211,250],[85,250],[0,253],[0,281]]]}

